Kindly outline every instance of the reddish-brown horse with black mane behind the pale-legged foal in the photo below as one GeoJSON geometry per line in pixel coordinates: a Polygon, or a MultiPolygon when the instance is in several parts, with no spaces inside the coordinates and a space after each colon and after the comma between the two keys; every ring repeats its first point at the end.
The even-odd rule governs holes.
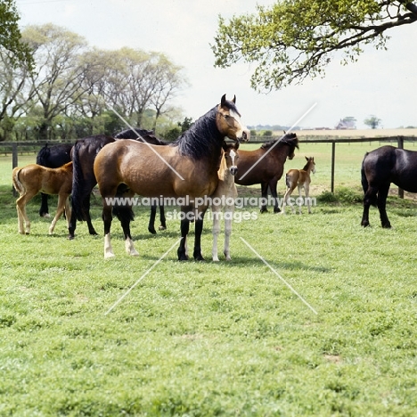
{"type": "MultiPolygon", "coordinates": [[[[298,137],[294,133],[283,135],[282,139],[262,144],[255,151],[239,151],[239,176],[234,182],[240,185],[261,184],[261,194],[264,201],[268,197],[268,186],[274,197],[274,213],[279,213],[276,185],[282,177],[285,160],[294,158],[294,151],[298,149],[298,137]]],[[[262,204],[261,213],[267,210],[262,204]]]]}

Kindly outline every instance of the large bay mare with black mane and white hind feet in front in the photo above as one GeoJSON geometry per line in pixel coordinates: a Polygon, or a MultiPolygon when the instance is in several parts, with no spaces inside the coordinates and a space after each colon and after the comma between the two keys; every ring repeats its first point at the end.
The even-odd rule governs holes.
{"type": "MultiPolygon", "coordinates": [[[[233,101],[228,101],[223,95],[220,104],[200,117],[168,146],[127,140],[102,148],[94,161],[94,174],[103,200],[104,258],[114,257],[110,243],[113,208],[110,199],[117,193],[144,197],[188,197],[190,201],[210,196],[217,187],[217,170],[225,136],[238,142],[247,140],[249,131],[241,124],[235,97],[233,101]]],[[[183,213],[191,209],[192,204],[182,207],[183,213]]],[[[114,213],[123,228],[127,253],[138,255],[130,233],[132,208],[128,205],[115,206],[114,213]]],[[[199,216],[200,211],[196,214],[193,256],[202,260],[200,238],[203,217],[199,216]]],[[[188,258],[186,237],[189,226],[190,221],[185,216],[181,220],[182,239],[177,250],[180,260],[188,258]]]]}

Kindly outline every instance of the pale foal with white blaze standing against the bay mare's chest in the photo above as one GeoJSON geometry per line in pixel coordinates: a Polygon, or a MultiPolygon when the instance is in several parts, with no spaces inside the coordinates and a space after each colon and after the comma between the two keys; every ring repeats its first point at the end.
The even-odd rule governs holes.
{"type": "Polygon", "coordinates": [[[230,235],[232,234],[232,221],[234,212],[234,200],[237,197],[237,189],[234,184],[234,176],[238,172],[236,167],[239,159],[239,143],[228,143],[223,147],[224,153],[220,162],[217,189],[211,196],[211,211],[213,214],[213,248],[211,255],[213,261],[218,262],[217,238],[220,233],[220,217],[222,215],[223,203],[225,203],[225,248],[223,253],[227,261],[230,258],[230,235]]]}

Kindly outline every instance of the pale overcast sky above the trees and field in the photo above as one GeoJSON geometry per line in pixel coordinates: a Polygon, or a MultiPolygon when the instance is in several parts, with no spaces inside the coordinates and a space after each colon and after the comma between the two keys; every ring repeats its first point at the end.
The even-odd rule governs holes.
{"type": "Polygon", "coordinates": [[[236,95],[247,126],[330,127],[347,116],[366,128],[371,115],[381,127],[417,126],[417,23],[388,31],[387,51],[366,47],[358,61],[341,65],[336,57],[324,78],[307,79],[269,94],[250,87],[254,67],[214,67],[218,15],[256,12],[256,4],[274,0],[16,0],[20,27],[53,23],[86,38],[91,46],[123,46],[166,53],[184,67],[190,86],[176,97],[184,117],[198,119],[223,94],[236,95]],[[307,113],[307,114],[306,114],[307,113]],[[303,117],[303,115],[305,115],[303,117]],[[301,119],[302,118],[302,119],[301,119]]]}

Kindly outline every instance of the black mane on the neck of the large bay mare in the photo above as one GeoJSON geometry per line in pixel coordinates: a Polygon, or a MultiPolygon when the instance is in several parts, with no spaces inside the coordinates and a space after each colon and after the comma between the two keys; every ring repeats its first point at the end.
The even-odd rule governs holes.
{"type": "MultiPolygon", "coordinates": [[[[235,109],[233,102],[227,104],[230,109],[235,109]]],[[[193,159],[201,159],[210,154],[216,155],[224,140],[224,136],[217,129],[216,115],[217,106],[197,119],[192,127],[171,143],[171,146],[177,146],[180,155],[190,156],[193,159]]]]}

